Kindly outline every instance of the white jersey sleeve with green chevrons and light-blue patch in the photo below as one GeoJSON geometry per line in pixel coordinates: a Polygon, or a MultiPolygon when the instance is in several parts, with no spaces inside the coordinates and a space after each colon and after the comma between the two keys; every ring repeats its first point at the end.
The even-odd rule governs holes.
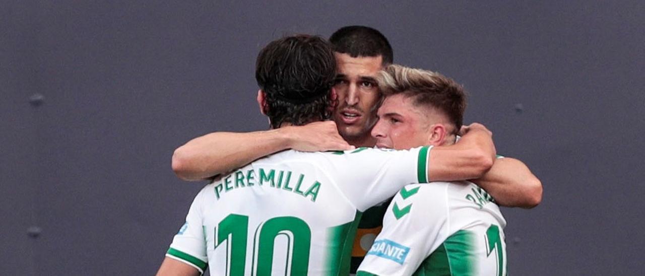
{"type": "Polygon", "coordinates": [[[394,197],[357,276],[412,275],[450,235],[446,186],[411,184],[394,197]]]}

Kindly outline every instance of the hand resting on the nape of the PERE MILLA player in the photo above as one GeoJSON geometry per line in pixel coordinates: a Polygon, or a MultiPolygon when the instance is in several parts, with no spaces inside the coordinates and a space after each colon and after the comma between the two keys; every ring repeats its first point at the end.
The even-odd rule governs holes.
{"type": "Polygon", "coordinates": [[[338,133],[334,121],[323,121],[304,126],[287,126],[284,133],[288,137],[289,148],[301,152],[326,152],[329,150],[353,150],[338,133]]]}

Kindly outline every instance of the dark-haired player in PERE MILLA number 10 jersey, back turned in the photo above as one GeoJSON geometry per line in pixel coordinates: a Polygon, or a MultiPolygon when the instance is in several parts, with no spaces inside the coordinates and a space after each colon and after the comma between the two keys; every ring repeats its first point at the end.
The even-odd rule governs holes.
{"type": "MultiPolygon", "coordinates": [[[[335,58],[319,37],[269,43],[257,59],[257,102],[274,129],[328,119],[335,58]]],[[[452,146],[406,151],[288,150],[206,185],[158,275],[346,275],[355,223],[410,182],[477,178],[495,156],[475,127],[452,146]],[[441,165],[440,165],[441,164],[441,165]]]]}

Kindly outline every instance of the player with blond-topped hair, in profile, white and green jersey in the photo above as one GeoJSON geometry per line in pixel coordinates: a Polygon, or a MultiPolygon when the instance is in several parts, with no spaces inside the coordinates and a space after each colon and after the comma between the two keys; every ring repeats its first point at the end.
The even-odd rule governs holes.
{"type": "MultiPolygon", "coordinates": [[[[385,98],[372,129],[377,146],[455,143],[466,108],[459,84],[390,65],[379,86],[385,98]]],[[[357,275],[506,275],[504,226],[492,197],[472,182],[409,184],[388,206],[382,232],[357,275]]]]}

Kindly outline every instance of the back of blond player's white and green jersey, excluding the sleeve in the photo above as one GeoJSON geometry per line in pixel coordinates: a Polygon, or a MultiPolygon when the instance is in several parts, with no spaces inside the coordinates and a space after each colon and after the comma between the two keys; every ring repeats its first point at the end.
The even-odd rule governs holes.
{"type": "Polygon", "coordinates": [[[450,271],[450,275],[506,275],[506,220],[493,197],[468,181],[437,182],[432,188],[446,191],[448,237],[415,275],[440,271],[450,271]]]}

